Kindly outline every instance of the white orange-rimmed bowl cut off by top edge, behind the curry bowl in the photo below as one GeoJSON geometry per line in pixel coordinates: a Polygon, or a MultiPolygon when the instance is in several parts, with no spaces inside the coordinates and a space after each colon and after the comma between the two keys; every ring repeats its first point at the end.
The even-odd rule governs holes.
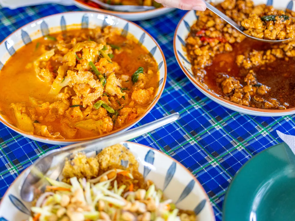
{"type": "Polygon", "coordinates": [[[158,17],[160,15],[166,14],[170,11],[175,10],[175,8],[158,8],[158,9],[153,9],[149,11],[141,11],[141,12],[121,12],[121,11],[110,11],[110,10],[105,10],[105,9],[98,9],[96,7],[92,7],[90,5],[87,5],[85,3],[82,3],[80,1],[73,0],[73,3],[81,8],[81,9],[86,9],[86,10],[91,10],[91,11],[98,11],[106,14],[111,14],[118,16],[123,19],[127,19],[130,21],[141,21],[141,20],[146,20],[154,17],[158,17]]]}

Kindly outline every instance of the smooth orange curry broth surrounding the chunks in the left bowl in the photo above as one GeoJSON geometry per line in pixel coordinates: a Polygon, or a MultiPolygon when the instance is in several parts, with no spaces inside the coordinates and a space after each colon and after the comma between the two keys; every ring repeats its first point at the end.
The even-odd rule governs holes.
{"type": "MultiPolygon", "coordinates": [[[[83,35],[86,36],[87,39],[90,40],[89,32],[91,32],[93,29],[79,29],[79,30],[69,30],[67,32],[63,32],[63,36],[65,36],[65,39],[69,36],[77,36],[77,35],[83,35]]],[[[51,34],[51,37],[59,38],[61,33],[55,33],[51,34]]],[[[71,37],[69,37],[71,38],[71,37]]],[[[95,40],[95,39],[91,39],[95,40]]],[[[117,95],[111,96],[106,95],[108,98],[106,100],[110,100],[110,97],[114,97],[113,100],[116,102],[108,103],[110,107],[112,107],[114,110],[118,110],[119,116],[121,116],[122,110],[124,108],[133,108],[133,111],[128,114],[128,117],[123,121],[120,121],[120,124],[117,121],[114,121],[114,116],[112,114],[108,113],[108,116],[112,118],[113,120],[113,127],[112,130],[118,129],[123,127],[126,124],[129,124],[130,122],[134,121],[137,117],[139,117],[144,111],[148,108],[148,105],[152,102],[153,98],[155,97],[155,94],[158,90],[158,81],[159,81],[159,75],[157,70],[157,63],[155,62],[154,58],[149,55],[148,50],[137,44],[137,40],[133,36],[129,36],[127,38],[118,35],[113,34],[111,37],[106,38],[107,44],[114,44],[116,46],[119,46],[120,52],[116,53],[115,51],[117,49],[113,49],[113,58],[112,61],[117,62],[119,65],[119,71],[115,71],[115,75],[118,79],[122,75],[129,76],[130,80],[120,80],[122,87],[120,88],[128,88],[128,90],[124,90],[125,99],[118,98],[117,95]],[[143,67],[144,70],[144,86],[135,86],[136,83],[133,83],[131,80],[132,74],[138,69],[138,67],[143,67]],[[132,93],[135,90],[140,90],[139,88],[142,88],[143,90],[148,88],[153,88],[152,94],[150,94],[150,97],[148,98],[147,103],[137,103],[134,102],[134,99],[132,99],[132,93]],[[130,105],[130,102],[133,102],[132,105],[130,105]],[[135,110],[136,109],[136,110],[135,110]],[[121,112],[120,112],[121,111],[121,112]],[[122,123],[123,122],[123,123],[122,123]]],[[[37,60],[42,55],[42,45],[46,45],[45,48],[47,50],[50,50],[52,48],[55,48],[56,41],[46,39],[44,37],[41,37],[39,39],[36,39],[32,41],[31,43],[25,45],[24,47],[17,50],[17,52],[9,58],[9,60],[5,63],[4,67],[0,71],[0,110],[3,111],[4,117],[12,122],[14,125],[17,125],[17,120],[14,116],[14,111],[10,107],[12,103],[20,103],[24,102],[27,107],[32,106],[29,100],[29,97],[33,97],[37,100],[41,100],[42,102],[49,102],[50,104],[56,101],[56,95],[50,94],[50,88],[51,84],[48,82],[42,82],[40,79],[36,76],[36,72],[34,70],[34,67],[32,63],[37,60]]],[[[98,59],[99,60],[99,59],[98,59]]],[[[77,60],[78,63],[78,60],[77,60]]],[[[51,61],[51,65],[54,68],[55,75],[58,67],[61,65],[61,62],[58,61],[51,61]]],[[[91,69],[89,70],[91,71],[91,69]]],[[[126,77],[126,76],[125,76],[126,77]]],[[[119,87],[119,86],[118,86],[119,87]]],[[[71,91],[72,96],[75,95],[75,92],[73,88],[69,88],[67,86],[68,90],[71,91]]],[[[122,91],[122,90],[121,90],[122,91]]],[[[60,91],[64,92],[64,88],[60,91]]],[[[105,91],[104,91],[105,92],[105,91]]],[[[102,98],[101,98],[102,99],[102,98]]],[[[72,98],[68,98],[70,107],[73,102],[72,98]]],[[[93,102],[94,103],[94,102],[93,102]]],[[[76,105],[77,106],[77,105],[76,105]]],[[[87,106],[88,107],[88,106],[87,106]]],[[[75,107],[76,108],[76,107],[75,107]]],[[[79,108],[79,107],[78,107],[79,108]]],[[[102,108],[102,107],[101,107],[102,108]]],[[[82,112],[86,109],[86,107],[81,107],[82,112]]],[[[28,113],[27,113],[28,114],[28,113]]],[[[28,114],[29,115],[29,114],[28,114]]],[[[41,125],[50,126],[52,129],[50,131],[50,134],[54,134],[56,132],[60,133],[60,135],[67,139],[67,138],[87,138],[87,137],[94,137],[97,135],[102,134],[101,132],[97,131],[91,131],[86,130],[84,128],[78,128],[75,126],[75,120],[73,117],[73,123],[67,123],[67,126],[71,128],[71,130],[76,130],[75,136],[68,136],[64,125],[61,124],[61,121],[63,118],[65,118],[65,114],[58,116],[54,121],[48,122],[44,120],[43,118],[38,118],[37,122],[41,125]]],[[[117,118],[116,118],[117,119],[117,118]]],[[[116,120],[115,119],[115,120],[116,120]]],[[[34,119],[32,119],[34,122],[34,119]]],[[[71,119],[70,119],[71,121],[71,119]]],[[[36,121],[35,121],[36,122],[36,121]]],[[[36,126],[35,123],[34,127],[36,126]]],[[[110,132],[110,131],[108,131],[110,132]]],[[[107,133],[108,133],[107,132],[107,133]]],[[[103,132],[105,133],[105,132],[103,132]]],[[[35,129],[34,129],[35,134],[35,129]]],[[[40,134],[37,134],[40,135],[40,134]]],[[[43,134],[41,136],[44,136],[43,134]]],[[[50,135],[47,137],[53,138],[50,135]]],[[[56,137],[60,138],[60,137],[56,137]]]]}

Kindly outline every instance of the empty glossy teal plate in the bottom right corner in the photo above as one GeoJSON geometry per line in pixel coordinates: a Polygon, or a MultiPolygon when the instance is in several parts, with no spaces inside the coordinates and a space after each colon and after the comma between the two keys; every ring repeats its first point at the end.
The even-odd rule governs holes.
{"type": "Polygon", "coordinates": [[[295,155],[286,143],[261,151],[237,172],[223,203],[224,221],[294,221],[295,155]]]}

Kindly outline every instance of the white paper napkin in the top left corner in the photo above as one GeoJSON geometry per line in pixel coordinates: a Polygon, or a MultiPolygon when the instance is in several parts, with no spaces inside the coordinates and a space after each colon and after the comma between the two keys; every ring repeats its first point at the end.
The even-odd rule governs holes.
{"type": "Polygon", "coordinates": [[[0,0],[3,8],[17,9],[24,6],[56,3],[61,5],[74,5],[72,0],[0,0]]]}

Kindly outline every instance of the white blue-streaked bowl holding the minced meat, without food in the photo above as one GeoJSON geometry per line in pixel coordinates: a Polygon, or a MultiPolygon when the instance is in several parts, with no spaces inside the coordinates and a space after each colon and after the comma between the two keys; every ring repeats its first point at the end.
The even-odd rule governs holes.
{"type": "MultiPolygon", "coordinates": [[[[214,3],[220,3],[223,0],[213,1],[214,3]]],[[[293,8],[293,1],[290,0],[253,0],[255,5],[258,4],[268,4],[273,5],[276,9],[283,9],[286,8],[292,9],[293,8]]],[[[208,9],[207,9],[208,10],[208,9]]],[[[243,105],[238,105],[233,102],[227,101],[223,98],[220,98],[215,93],[212,93],[210,90],[204,88],[194,77],[192,74],[191,63],[186,56],[186,51],[184,50],[185,39],[189,34],[190,27],[196,22],[197,16],[195,11],[189,11],[186,13],[176,28],[174,39],[173,39],[173,49],[174,55],[178,62],[178,65],[181,67],[185,75],[189,78],[191,83],[195,85],[204,95],[208,98],[214,100],[215,102],[219,103],[220,105],[227,107],[229,109],[256,115],[256,116],[284,116],[289,114],[295,113],[295,108],[290,108],[286,110],[266,110],[266,109],[259,109],[259,108],[250,108],[243,105]]]]}

